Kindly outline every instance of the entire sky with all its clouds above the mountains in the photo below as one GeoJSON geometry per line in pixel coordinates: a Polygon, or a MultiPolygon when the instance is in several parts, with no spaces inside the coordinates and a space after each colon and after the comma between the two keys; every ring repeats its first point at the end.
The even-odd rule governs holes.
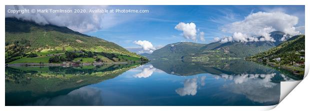
{"type": "MultiPolygon", "coordinates": [[[[304,33],[304,5],[5,5],[7,9],[147,9],[148,13],[24,13],[5,17],[53,24],[134,52],[166,44],[274,41],[269,32],[304,33]],[[264,36],[258,39],[257,36],[264,36]],[[129,48],[128,48],[129,47],[129,48]]],[[[287,39],[287,36],[281,40],[287,39]]]]}

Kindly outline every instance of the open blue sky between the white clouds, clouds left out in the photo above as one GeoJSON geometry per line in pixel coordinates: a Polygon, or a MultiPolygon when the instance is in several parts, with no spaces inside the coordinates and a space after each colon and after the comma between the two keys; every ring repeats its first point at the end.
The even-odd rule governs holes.
{"type": "Polygon", "coordinates": [[[295,26],[304,26],[303,5],[132,5],[108,6],[108,9],[148,9],[148,13],[117,13],[106,28],[86,34],[98,36],[123,47],[138,47],[134,40],[147,40],[153,46],[164,46],[179,41],[212,42],[214,37],[229,36],[220,27],[241,21],[250,13],[280,11],[298,17],[295,26]],[[174,27],[179,23],[193,22],[203,31],[205,41],[191,40],[182,36],[174,27]]]}

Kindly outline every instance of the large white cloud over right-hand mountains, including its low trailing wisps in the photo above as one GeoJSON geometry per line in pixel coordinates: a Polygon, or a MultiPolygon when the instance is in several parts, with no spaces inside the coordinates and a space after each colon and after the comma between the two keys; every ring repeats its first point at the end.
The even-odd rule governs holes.
{"type": "Polygon", "coordinates": [[[228,41],[275,41],[269,34],[275,30],[291,35],[300,34],[299,30],[302,30],[302,27],[295,27],[297,23],[297,16],[283,12],[251,13],[244,20],[232,22],[221,27],[222,31],[232,33],[232,36],[223,37],[221,40],[214,38],[214,40],[221,43],[228,41]]]}

